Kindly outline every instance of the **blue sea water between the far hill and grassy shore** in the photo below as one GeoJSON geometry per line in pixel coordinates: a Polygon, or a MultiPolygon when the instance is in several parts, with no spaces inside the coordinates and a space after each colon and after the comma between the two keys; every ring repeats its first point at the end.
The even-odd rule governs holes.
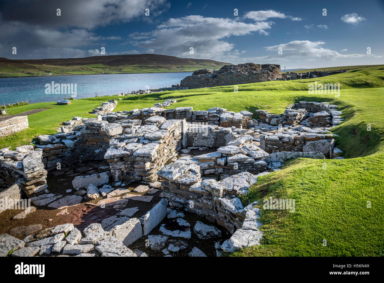
{"type": "MultiPolygon", "coordinates": [[[[22,102],[51,102],[64,99],[64,94],[46,91],[46,85],[76,84],[75,99],[102,95],[117,95],[132,90],[170,87],[180,83],[183,78],[192,75],[183,73],[145,73],[145,74],[113,74],[113,75],[72,75],[53,77],[0,78],[0,104],[22,102]],[[46,93],[48,92],[48,94],[46,93]]],[[[71,97],[71,95],[66,95],[71,97]]]]}

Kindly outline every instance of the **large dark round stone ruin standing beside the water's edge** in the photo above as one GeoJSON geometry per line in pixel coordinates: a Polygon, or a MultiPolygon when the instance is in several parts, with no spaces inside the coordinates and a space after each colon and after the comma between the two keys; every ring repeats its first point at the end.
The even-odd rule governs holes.
{"type": "Polygon", "coordinates": [[[267,82],[281,78],[280,65],[245,63],[225,65],[218,71],[197,70],[180,82],[182,88],[217,87],[267,82]]]}

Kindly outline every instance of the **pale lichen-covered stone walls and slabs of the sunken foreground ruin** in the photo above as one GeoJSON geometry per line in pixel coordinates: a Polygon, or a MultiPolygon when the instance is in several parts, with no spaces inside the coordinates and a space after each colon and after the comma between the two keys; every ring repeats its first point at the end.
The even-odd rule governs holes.
{"type": "Polygon", "coordinates": [[[39,145],[0,150],[0,198],[26,195],[35,206],[65,209],[101,197],[97,206],[119,210],[82,233],[68,223],[31,233],[23,241],[3,234],[1,255],[14,250],[12,256],[146,256],[128,246],[147,237],[151,250],[166,256],[186,249],[189,256],[205,256],[190,246],[192,233],[211,239],[225,231],[232,236],[215,243],[220,256],[260,244],[257,201],[247,205],[240,200],[258,176],[280,170],[290,158],[343,159],[330,131],[343,122],[336,105],[300,101],[281,115],[164,108],[175,102],[108,112],[116,107],[116,101],[109,101],[95,118],[74,117],[57,134],[39,136],[39,145]],[[93,174],[73,178],[74,194],[50,192],[48,172],[86,160],[104,163],[93,174]],[[132,182],[142,184],[132,192],[143,195],[111,186],[132,182]],[[140,218],[132,218],[136,207],[124,209],[128,201],[151,202],[158,191],[161,200],[140,218]],[[183,211],[212,225],[197,221],[191,226],[183,211]],[[155,228],[159,235],[152,235],[155,228]]]}

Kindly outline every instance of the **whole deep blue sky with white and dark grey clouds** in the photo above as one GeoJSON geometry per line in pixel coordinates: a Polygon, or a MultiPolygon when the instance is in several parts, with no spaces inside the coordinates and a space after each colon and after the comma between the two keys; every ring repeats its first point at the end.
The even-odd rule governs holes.
{"type": "Polygon", "coordinates": [[[154,53],[282,69],[372,65],[384,64],[383,28],[384,0],[3,0],[0,57],[154,53]]]}

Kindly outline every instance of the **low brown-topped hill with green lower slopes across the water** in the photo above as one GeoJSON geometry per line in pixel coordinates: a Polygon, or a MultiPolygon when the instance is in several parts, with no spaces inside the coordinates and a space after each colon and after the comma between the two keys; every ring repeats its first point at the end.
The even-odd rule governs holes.
{"type": "Polygon", "coordinates": [[[104,55],[85,58],[12,60],[0,58],[0,78],[118,73],[193,72],[231,63],[157,54],[104,55]]]}

